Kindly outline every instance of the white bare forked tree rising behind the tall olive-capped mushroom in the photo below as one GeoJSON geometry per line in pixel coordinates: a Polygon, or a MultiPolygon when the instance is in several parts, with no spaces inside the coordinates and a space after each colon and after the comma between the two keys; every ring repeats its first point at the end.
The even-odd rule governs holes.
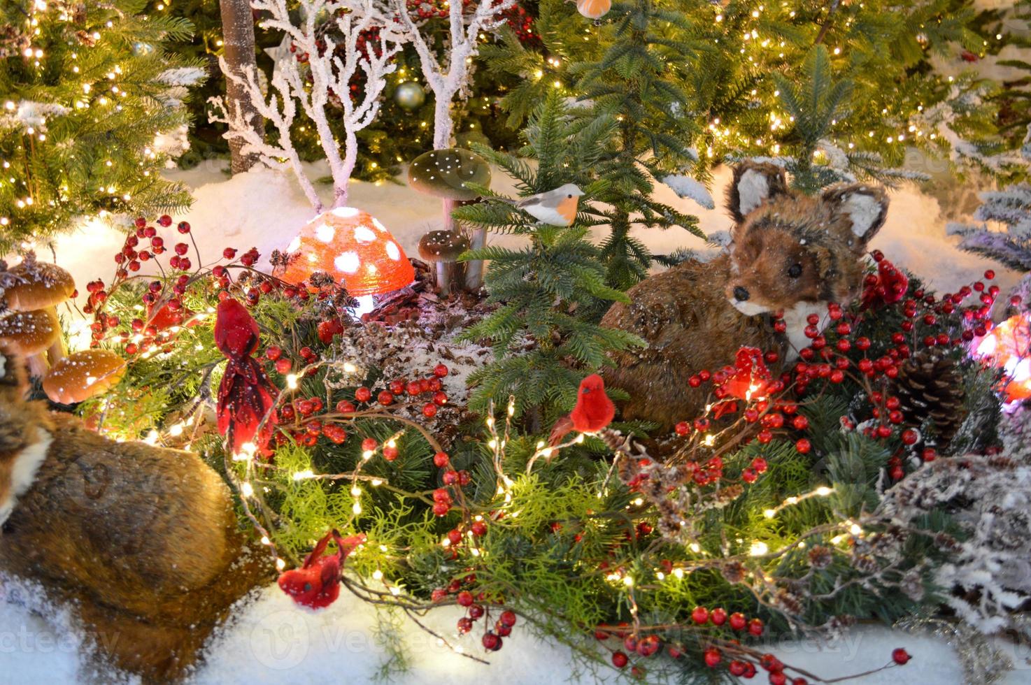
{"type": "Polygon", "coordinates": [[[451,105],[455,95],[464,92],[469,79],[469,65],[479,52],[480,34],[494,31],[504,20],[502,14],[516,0],[478,0],[471,11],[455,0],[448,4],[451,43],[441,58],[426,42],[420,24],[412,20],[405,0],[386,0],[400,21],[406,38],[419,55],[423,76],[433,91],[433,147],[440,149],[451,144],[451,105]]]}

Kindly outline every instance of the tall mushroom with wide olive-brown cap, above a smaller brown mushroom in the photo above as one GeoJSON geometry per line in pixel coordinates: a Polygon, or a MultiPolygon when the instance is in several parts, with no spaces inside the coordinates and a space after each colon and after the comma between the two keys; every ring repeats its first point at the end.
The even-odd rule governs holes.
{"type": "MultiPolygon", "coordinates": [[[[408,185],[424,195],[443,201],[444,230],[455,231],[452,212],[455,207],[472,202],[479,193],[470,185],[491,184],[491,165],[487,160],[459,147],[434,149],[417,157],[408,167],[408,185]]],[[[472,238],[471,247],[487,244],[487,228],[481,227],[472,238]]],[[[465,284],[470,289],[484,283],[484,263],[466,265],[465,284]]]]}

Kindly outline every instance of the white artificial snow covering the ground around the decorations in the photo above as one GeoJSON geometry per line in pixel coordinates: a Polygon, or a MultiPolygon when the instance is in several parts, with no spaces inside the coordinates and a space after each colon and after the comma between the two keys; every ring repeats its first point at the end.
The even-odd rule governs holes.
{"type": "MultiPolygon", "coordinates": [[[[202,258],[211,260],[222,248],[252,245],[267,258],[273,248],[284,248],[297,230],[311,218],[312,211],[289,176],[255,171],[234,178],[223,175],[218,165],[189,172],[172,172],[191,186],[196,198],[186,219],[202,258]]],[[[314,174],[314,177],[324,175],[314,174]]],[[[705,210],[690,200],[676,198],[662,187],[659,198],[700,217],[706,233],[724,231],[730,219],[719,200],[729,179],[729,171],[718,174],[712,196],[717,208],[705,210]]],[[[495,178],[499,192],[511,189],[504,178],[495,178]]],[[[329,187],[323,189],[329,195],[329,187]]],[[[417,195],[401,184],[352,183],[354,206],[369,211],[391,230],[408,254],[417,254],[419,238],[438,228],[440,205],[432,198],[417,195]]],[[[169,239],[177,237],[169,233],[169,239]]],[[[676,247],[705,248],[703,241],[683,231],[640,232],[638,236],[656,252],[676,247]]],[[[57,260],[72,272],[81,286],[89,280],[109,280],[114,264],[111,256],[121,247],[123,234],[99,224],[88,225],[62,238],[56,247],[57,260]]],[[[501,237],[497,242],[512,244],[518,239],[501,237]]],[[[999,274],[1005,288],[1016,282],[1012,273],[987,260],[957,250],[955,240],[945,237],[935,200],[914,189],[892,195],[888,221],[873,241],[890,260],[925,277],[939,290],[949,290],[977,277],[987,268],[999,274]]],[[[41,255],[43,256],[43,255],[41,255]]],[[[45,259],[45,258],[44,258],[45,259]]],[[[451,639],[458,614],[441,609],[427,617],[427,624],[451,639]]],[[[208,648],[206,664],[196,676],[198,683],[353,682],[372,680],[380,673],[386,651],[374,637],[376,610],[343,593],[331,608],[313,613],[296,608],[277,588],[269,587],[240,607],[234,620],[208,648]]],[[[0,685],[73,683],[80,681],[81,637],[70,626],[66,615],[38,602],[37,594],[0,585],[0,685]]],[[[570,651],[553,642],[534,640],[527,630],[517,630],[505,647],[492,654],[492,665],[478,664],[440,647],[410,622],[401,621],[411,670],[398,677],[403,683],[561,683],[570,680],[570,651]]],[[[477,655],[483,653],[472,633],[458,644],[477,655]]],[[[891,650],[904,646],[913,656],[905,667],[891,669],[854,681],[863,685],[963,682],[954,649],[944,641],[893,632],[866,626],[853,630],[836,645],[818,647],[810,643],[786,642],[777,651],[785,661],[796,663],[827,678],[868,671],[885,663],[891,650]]],[[[1004,645],[1015,663],[1003,683],[1031,683],[1029,652],[1004,645]],[[1016,651],[1015,651],[1016,649],[1016,651]]],[[[591,673],[576,682],[600,682],[591,673]]],[[[114,675],[99,680],[110,682],[114,675]]]]}

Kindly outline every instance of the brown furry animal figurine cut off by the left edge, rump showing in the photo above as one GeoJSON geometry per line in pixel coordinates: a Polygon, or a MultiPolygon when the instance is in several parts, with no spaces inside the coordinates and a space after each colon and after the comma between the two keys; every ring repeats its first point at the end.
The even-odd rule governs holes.
{"type": "Polygon", "coordinates": [[[113,442],[24,400],[0,354],[0,571],[70,603],[104,662],[186,675],[229,607],[271,578],[196,454],[113,442]]]}

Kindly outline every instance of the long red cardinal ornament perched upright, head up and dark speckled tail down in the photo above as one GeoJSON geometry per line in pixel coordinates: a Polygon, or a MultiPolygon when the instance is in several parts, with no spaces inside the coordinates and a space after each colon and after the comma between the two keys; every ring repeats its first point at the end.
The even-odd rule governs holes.
{"type": "Polygon", "coordinates": [[[268,456],[272,453],[268,442],[277,421],[275,412],[265,421],[261,435],[258,426],[275,406],[279,391],[252,356],[258,349],[258,322],[232,298],[219,303],[215,316],[214,344],[229,358],[219,385],[219,433],[234,454],[241,452],[244,444],[254,443],[268,456]]]}

